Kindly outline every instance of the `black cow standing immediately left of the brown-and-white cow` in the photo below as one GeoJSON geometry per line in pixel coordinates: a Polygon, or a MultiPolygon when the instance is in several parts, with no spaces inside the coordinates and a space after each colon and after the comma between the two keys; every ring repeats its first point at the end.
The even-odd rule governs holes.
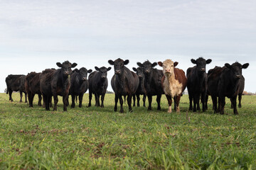
{"type": "Polygon", "coordinates": [[[156,62],[151,64],[149,60],[143,64],[137,62],[139,67],[142,67],[144,73],[144,86],[146,89],[146,96],[148,97],[149,107],[148,110],[151,110],[152,96],[156,96],[157,110],[161,110],[160,101],[161,95],[164,94],[164,90],[161,86],[161,79],[164,76],[163,72],[159,69],[154,69],[157,65],[156,62]]]}

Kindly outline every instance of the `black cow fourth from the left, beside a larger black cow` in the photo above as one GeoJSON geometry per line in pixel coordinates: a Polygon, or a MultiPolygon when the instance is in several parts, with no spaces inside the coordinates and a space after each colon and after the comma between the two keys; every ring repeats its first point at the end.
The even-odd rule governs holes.
{"type": "Polygon", "coordinates": [[[71,108],[75,108],[75,97],[79,96],[79,107],[82,107],[82,97],[88,89],[87,73],[92,72],[92,69],[85,69],[85,67],[75,69],[71,74],[70,92],[72,96],[71,108]]]}

